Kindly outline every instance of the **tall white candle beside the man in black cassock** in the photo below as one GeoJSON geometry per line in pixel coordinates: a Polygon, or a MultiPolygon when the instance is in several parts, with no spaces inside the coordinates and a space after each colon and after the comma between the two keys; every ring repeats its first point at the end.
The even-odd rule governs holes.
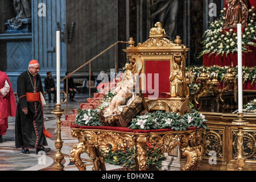
{"type": "Polygon", "coordinates": [[[60,104],[60,31],[56,32],[57,104],[60,104]]]}

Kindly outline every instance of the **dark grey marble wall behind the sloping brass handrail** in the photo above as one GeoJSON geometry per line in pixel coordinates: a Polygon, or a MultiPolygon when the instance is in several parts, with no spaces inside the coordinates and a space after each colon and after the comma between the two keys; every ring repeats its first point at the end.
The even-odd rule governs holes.
{"type": "MultiPolygon", "coordinates": [[[[118,0],[67,0],[66,7],[67,26],[76,22],[73,41],[67,44],[67,69],[71,72],[118,41],[118,0]]],[[[110,72],[115,68],[114,56],[114,48],[105,52],[92,62],[92,71],[110,72]]],[[[89,65],[79,72],[88,71],[89,65]]]]}

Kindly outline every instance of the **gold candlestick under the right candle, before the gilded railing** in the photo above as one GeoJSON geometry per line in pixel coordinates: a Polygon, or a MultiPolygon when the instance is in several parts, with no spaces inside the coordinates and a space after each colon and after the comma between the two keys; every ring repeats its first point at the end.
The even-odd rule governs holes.
{"type": "Polygon", "coordinates": [[[249,122],[243,119],[243,113],[238,113],[238,119],[234,119],[232,122],[232,125],[238,127],[236,158],[238,171],[242,171],[243,167],[245,166],[245,158],[243,158],[243,127],[245,127],[248,124],[249,122]]]}

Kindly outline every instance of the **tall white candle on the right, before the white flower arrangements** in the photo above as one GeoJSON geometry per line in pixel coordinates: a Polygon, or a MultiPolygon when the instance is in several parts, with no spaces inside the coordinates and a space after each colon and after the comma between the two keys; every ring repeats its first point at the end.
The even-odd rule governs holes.
{"type": "Polygon", "coordinates": [[[238,113],[243,112],[242,26],[237,24],[238,113]]]}

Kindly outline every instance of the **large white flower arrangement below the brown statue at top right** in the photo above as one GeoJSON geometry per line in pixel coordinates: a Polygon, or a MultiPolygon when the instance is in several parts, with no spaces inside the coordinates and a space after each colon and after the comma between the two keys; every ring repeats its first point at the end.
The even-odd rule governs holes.
{"type": "MultiPolygon", "coordinates": [[[[226,8],[221,10],[220,18],[215,22],[209,22],[210,26],[207,31],[205,31],[203,38],[205,39],[202,43],[204,44],[203,51],[200,53],[199,57],[206,53],[212,55],[217,53],[217,55],[228,55],[228,53],[237,52],[237,33],[233,32],[230,28],[225,34],[222,33],[225,25],[225,15],[226,8]]],[[[247,45],[256,46],[256,14],[254,7],[249,10],[249,23],[245,28],[245,32],[242,34],[242,51],[250,52],[247,50],[247,45]]]]}

